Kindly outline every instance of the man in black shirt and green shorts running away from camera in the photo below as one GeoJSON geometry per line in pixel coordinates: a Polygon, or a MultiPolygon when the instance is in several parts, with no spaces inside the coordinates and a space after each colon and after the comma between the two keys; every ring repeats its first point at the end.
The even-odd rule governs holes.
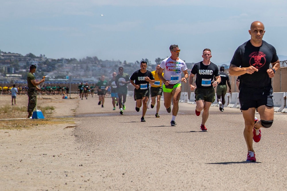
{"type": "Polygon", "coordinates": [[[224,66],[220,67],[220,78],[221,78],[221,82],[218,84],[217,88],[216,88],[216,97],[217,97],[217,102],[219,104],[219,110],[220,111],[224,111],[224,104],[225,104],[225,94],[227,92],[227,86],[226,86],[226,82],[227,85],[229,87],[229,93],[231,93],[231,85],[230,85],[230,81],[229,81],[229,76],[228,74],[226,74],[224,72],[224,66]],[[220,100],[221,98],[221,100],[220,100]],[[221,102],[222,101],[222,102],[221,102]]]}

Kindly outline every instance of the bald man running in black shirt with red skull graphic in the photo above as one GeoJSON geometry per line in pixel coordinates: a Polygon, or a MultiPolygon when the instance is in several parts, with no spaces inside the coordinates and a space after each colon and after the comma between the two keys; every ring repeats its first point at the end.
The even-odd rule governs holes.
{"type": "Polygon", "coordinates": [[[251,24],[251,40],[237,48],[229,66],[230,75],[240,76],[239,102],[245,121],[247,162],[256,162],[253,140],[259,142],[260,128],[271,127],[274,119],[271,78],[279,70],[280,62],[275,48],[262,40],[264,29],[260,21],[251,24]],[[272,68],[269,68],[270,64],[272,68]],[[256,110],[260,120],[255,117],[256,110]]]}

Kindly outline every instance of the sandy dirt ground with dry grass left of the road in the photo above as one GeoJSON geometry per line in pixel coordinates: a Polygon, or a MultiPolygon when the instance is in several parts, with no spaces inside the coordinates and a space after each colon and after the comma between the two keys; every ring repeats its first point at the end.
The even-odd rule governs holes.
{"type": "MultiPolygon", "coordinates": [[[[77,185],[77,189],[71,186],[75,179],[82,184],[88,181],[84,174],[69,177],[71,168],[67,168],[81,168],[76,162],[80,160],[69,156],[77,155],[70,145],[75,144],[72,131],[76,125],[72,116],[79,102],[76,95],[71,98],[74,99],[62,99],[61,95],[40,96],[38,106],[54,107],[46,111],[45,119],[0,120],[0,190],[78,190],[80,186],[77,185]]],[[[0,95],[0,100],[0,119],[27,117],[23,109],[3,112],[3,107],[27,110],[27,95],[18,95],[14,106],[9,95],[0,95]]]]}

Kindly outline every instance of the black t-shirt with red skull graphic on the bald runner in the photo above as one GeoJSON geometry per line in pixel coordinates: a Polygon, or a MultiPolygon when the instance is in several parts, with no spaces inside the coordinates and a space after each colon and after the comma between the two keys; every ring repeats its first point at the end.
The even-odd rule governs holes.
{"type": "Polygon", "coordinates": [[[271,86],[271,78],[267,74],[270,63],[278,60],[276,49],[264,40],[260,47],[255,47],[250,40],[242,44],[235,51],[230,65],[245,68],[254,66],[258,72],[253,74],[243,74],[240,78],[239,89],[241,86],[252,88],[263,88],[271,86]]]}

